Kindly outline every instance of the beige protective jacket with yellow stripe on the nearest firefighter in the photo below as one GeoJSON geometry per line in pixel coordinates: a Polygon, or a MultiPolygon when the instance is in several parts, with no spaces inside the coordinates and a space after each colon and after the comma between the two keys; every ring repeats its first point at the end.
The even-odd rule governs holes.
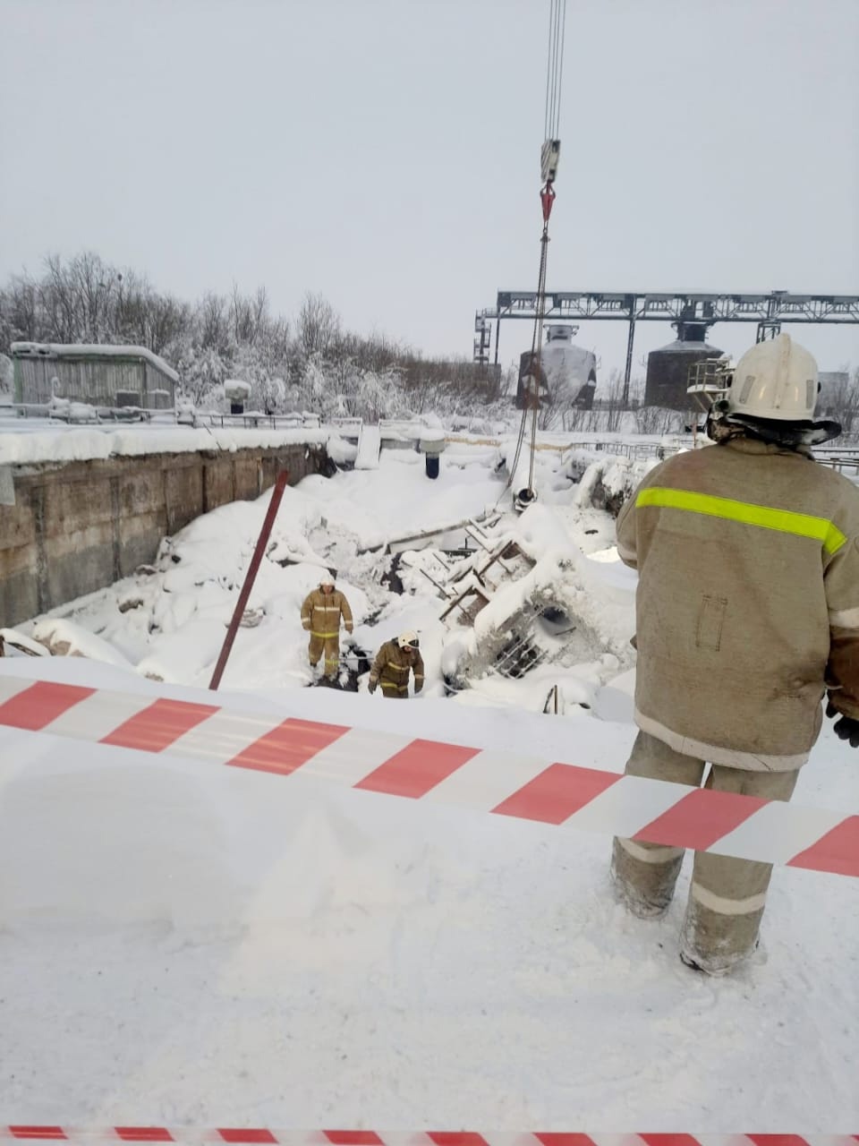
{"type": "Polygon", "coordinates": [[[750,438],[678,454],[617,518],[638,568],[636,722],[678,752],[799,768],[826,685],[859,717],[859,489],[750,438]]]}

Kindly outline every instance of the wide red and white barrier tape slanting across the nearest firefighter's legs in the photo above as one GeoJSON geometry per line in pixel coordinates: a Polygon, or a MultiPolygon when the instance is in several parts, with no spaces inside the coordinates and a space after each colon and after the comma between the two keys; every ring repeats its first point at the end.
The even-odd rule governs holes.
{"type": "Polygon", "coordinates": [[[279,776],[300,769],[302,776],[368,792],[859,876],[859,815],[537,756],[0,676],[2,724],[279,776]]]}

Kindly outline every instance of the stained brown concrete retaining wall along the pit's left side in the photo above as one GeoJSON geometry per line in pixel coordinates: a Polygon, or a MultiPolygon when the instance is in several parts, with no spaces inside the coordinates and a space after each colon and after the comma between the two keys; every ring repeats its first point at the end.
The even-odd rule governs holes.
{"type": "Polygon", "coordinates": [[[164,536],[231,501],[252,501],[285,466],[290,485],[328,463],[321,446],[151,454],[14,465],[0,504],[0,627],[94,592],[155,559],[164,536]]]}

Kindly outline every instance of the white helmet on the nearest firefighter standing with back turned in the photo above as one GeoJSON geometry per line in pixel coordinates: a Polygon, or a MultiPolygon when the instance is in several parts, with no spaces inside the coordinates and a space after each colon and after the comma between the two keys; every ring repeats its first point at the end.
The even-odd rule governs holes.
{"type": "Polygon", "coordinates": [[[728,417],[807,422],[818,400],[818,364],[790,335],[757,343],[736,363],[725,400],[728,417]]]}

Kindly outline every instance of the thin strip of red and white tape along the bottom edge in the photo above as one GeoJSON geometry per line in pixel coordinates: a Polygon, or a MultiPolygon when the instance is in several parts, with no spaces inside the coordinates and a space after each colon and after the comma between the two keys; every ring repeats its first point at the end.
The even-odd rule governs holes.
{"type": "Polygon", "coordinates": [[[859,1135],[602,1135],[473,1130],[197,1130],[188,1127],[0,1127],[0,1138],[41,1141],[229,1143],[236,1146],[856,1146],[859,1135]]]}

